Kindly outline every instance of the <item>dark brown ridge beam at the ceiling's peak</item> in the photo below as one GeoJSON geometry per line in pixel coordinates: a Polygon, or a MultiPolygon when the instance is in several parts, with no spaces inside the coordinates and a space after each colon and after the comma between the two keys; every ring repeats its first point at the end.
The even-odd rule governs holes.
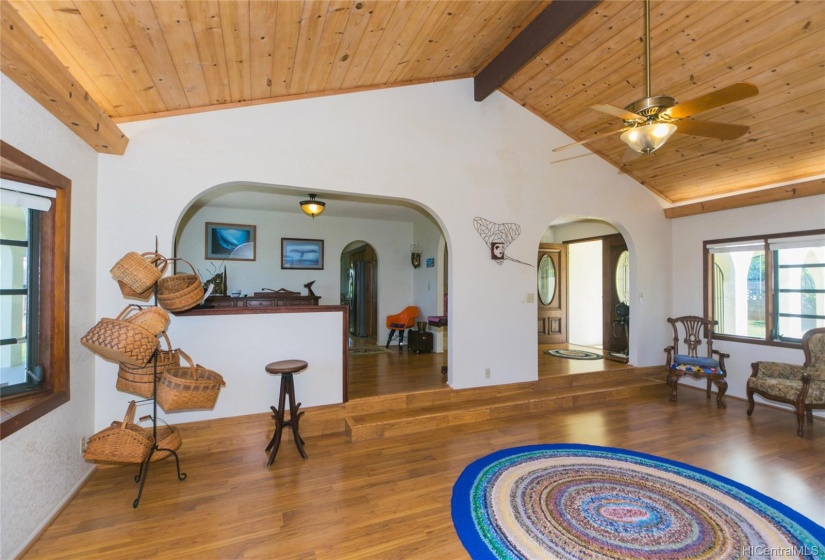
{"type": "Polygon", "coordinates": [[[475,100],[484,101],[599,2],[600,0],[550,2],[509,45],[478,72],[473,86],[475,100]]]}

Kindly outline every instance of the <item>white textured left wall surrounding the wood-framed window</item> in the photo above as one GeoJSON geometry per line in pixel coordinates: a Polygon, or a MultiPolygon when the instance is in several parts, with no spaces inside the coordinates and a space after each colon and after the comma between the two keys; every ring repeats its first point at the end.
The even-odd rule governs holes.
{"type": "Polygon", "coordinates": [[[94,363],[79,340],[95,320],[97,154],[5,75],[0,121],[5,142],[72,181],[71,400],[0,442],[0,558],[13,558],[92,469],[80,438],[92,433],[94,363]]]}

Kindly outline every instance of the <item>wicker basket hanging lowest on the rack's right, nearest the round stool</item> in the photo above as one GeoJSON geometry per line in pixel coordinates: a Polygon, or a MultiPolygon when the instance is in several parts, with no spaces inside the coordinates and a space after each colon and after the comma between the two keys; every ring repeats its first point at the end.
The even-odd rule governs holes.
{"type": "Polygon", "coordinates": [[[195,365],[183,350],[179,354],[189,366],[171,367],[163,372],[155,398],[166,412],[213,408],[221,387],[226,385],[221,374],[195,365]]]}

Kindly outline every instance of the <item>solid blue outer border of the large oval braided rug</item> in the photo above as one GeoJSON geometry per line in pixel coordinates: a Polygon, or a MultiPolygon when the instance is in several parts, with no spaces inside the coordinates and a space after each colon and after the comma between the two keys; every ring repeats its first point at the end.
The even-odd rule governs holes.
{"type": "MultiPolygon", "coordinates": [[[[536,451],[565,449],[569,449],[571,451],[610,453],[615,454],[616,459],[621,459],[622,457],[635,457],[638,459],[642,459],[644,461],[675,467],[680,471],[684,470],[688,471],[689,473],[695,473],[700,477],[709,478],[711,480],[734,488],[744,494],[747,494],[749,497],[754,498],[762,502],[763,504],[773,508],[778,513],[784,515],[790,521],[792,521],[793,523],[797,524],[799,527],[807,531],[813,538],[815,538],[820,543],[822,543],[823,546],[825,546],[825,527],[822,527],[821,525],[815,523],[813,520],[802,515],[796,510],[786,506],[782,502],[774,500],[770,496],[766,496],[765,494],[762,494],[761,492],[754,490],[749,486],[740,484],[739,482],[736,482],[735,480],[732,480],[725,476],[718,475],[714,472],[699,467],[694,467],[692,465],[682,463],[680,461],[673,461],[671,459],[659,457],[658,455],[650,455],[647,453],[631,451],[629,449],[623,449],[620,447],[603,447],[598,445],[587,445],[581,443],[548,443],[539,445],[526,445],[522,447],[510,447],[507,449],[495,451],[489,455],[481,457],[480,459],[476,459],[464,469],[461,475],[459,475],[458,480],[456,480],[455,484],[453,485],[453,494],[450,500],[451,515],[453,519],[453,527],[455,527],[455,531],[458,534],[458,538],[461,540],[461,543],[464,545],[464,548],[467,550],[467,552],[470,554],[473,560],[483,560],[487,558],[496,560],[499,558],[493,553],[493,551],[489,549],[487,543],[481,538],[473,521],[473,504],[470,500],[470,497],[472,495],[473,486],[475,485],[476,479],[478,478],[479,474],[491,464],[502,459],[505,459],[507,457],[511,457],[513,455],[520,455],[523,453],[530,453],[536,451]]],[[[825,550],[820,549],[819,552],[823,554],[823,556],[821,556],[820,558],[825,558],[825,550]]]]}

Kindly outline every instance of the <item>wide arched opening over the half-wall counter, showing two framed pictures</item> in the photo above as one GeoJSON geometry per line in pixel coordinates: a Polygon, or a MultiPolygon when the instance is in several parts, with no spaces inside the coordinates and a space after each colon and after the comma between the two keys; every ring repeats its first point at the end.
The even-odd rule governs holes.
{"type": "Polygon", "coordinates": [[[426,352],[397,343],[386,349],[383,342],[389,332],[385,317],[408,305],[419,308],[424,322],[445,313],[445,239],[439,221],[408,201],[238,182],[209,188],[190,203],[175,232],[175,256],[202,281],[219,274],[227,295],[304,294],[310,285],[319,305],[346,306],[353,399],[444,386],[443,342],[426,352]],[[315,217],[300,208],[310,192],[326,203],[315,217]],[[223,237],[214,236],[216,228],[223,237]],[[244,246],[242,254],[233,244],[244,246]],[[421,252],[419,267],[411,264],[413,245],[421,252]],[[299,249],[313,252],[296,261],[299,249]],[[416,363],[428,359],[432,367],[416,363]]]}

